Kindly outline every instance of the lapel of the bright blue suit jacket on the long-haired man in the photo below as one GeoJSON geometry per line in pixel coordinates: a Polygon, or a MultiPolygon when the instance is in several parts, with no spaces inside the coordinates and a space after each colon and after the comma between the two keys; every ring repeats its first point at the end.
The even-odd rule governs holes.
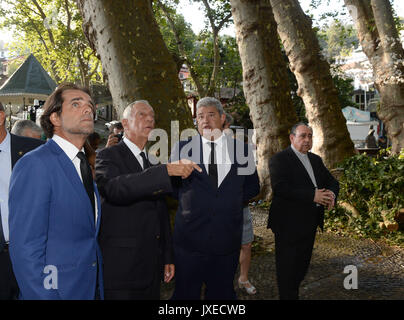
{"type": "MultiPolygon", "coordinates": [[[[71,184],[72,188],[74,189],[74,192],[76,195],[79,197],[81,202],[85,204],[85,211],[87,212],[87,215],[92,223],[92,225],[95,227],[95,221],[94,221],[94,211],[91,206],[90,199],[88,198],[87,192],[84,188],[83,182],[81,182],[80,177],[77,173],[76,168],[74,167],[73,162],[69,159],[69,157],[66,155],[66,153],[59,147],[59,145],[54,142],[52,139],[50,139],[47,142],[47,145],[49,148],[56,154],[57,160],[60,163],[60,166],[62,167],[62,170],[65,174],[65,180],[69,181],[71,184]]],[[[96,187],[94,188],[96,190],[96,187]]],[[[97,201],[99,199],[97,198],[97,201]]],[[[100,211],[98,211],[100,212],[100,211]]]]}

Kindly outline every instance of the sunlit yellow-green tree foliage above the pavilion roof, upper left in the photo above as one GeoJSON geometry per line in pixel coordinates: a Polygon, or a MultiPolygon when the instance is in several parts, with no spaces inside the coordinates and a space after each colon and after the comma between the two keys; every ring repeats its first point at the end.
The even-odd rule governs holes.
{"type": "Polygon", "coordinates": [[[14,30],[11,54],[33,53],[56,82],[88,86],[101,77],[100,64],[81,29],[73,0],[3,0],[0,27],[14,30]]]}

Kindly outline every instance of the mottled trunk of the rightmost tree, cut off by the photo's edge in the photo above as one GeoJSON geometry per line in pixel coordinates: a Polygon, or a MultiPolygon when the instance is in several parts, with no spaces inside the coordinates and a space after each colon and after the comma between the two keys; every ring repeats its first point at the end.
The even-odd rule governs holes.
{"type": "Polygon", "coordinates": [[[380,93],[379,118],[386,126],[392,152],[404,148],[404,50],[388,0],[345,0],[380,93]]]}

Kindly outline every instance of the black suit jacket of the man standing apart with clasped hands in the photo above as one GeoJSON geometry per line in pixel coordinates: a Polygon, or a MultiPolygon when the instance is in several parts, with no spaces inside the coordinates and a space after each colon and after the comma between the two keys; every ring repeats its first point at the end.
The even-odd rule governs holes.
{"type": "MultiPolygon", "coordinates": [[[[338,196],[338,181],[324,166],[321,158],[309,152],[318,189],[326,188],[338,196]]],[[[314,200],[315,186],[307,170],[289,146],[275,154],[269,164],[273,199],[268,228],[274,233],[287,232],[291,238],[304,237],[323,228],[324,207],[314,200]]]]}

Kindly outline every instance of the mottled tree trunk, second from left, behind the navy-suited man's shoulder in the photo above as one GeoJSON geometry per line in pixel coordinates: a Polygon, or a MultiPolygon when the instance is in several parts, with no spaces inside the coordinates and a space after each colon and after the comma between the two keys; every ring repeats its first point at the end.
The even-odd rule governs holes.
{"type": "Polygon", "coordinates": [[[270,195],[269,158],[290,144],[298,119],[269,0],[231,0],[243,89],[256,130],[261,195],[270,195]]]}

